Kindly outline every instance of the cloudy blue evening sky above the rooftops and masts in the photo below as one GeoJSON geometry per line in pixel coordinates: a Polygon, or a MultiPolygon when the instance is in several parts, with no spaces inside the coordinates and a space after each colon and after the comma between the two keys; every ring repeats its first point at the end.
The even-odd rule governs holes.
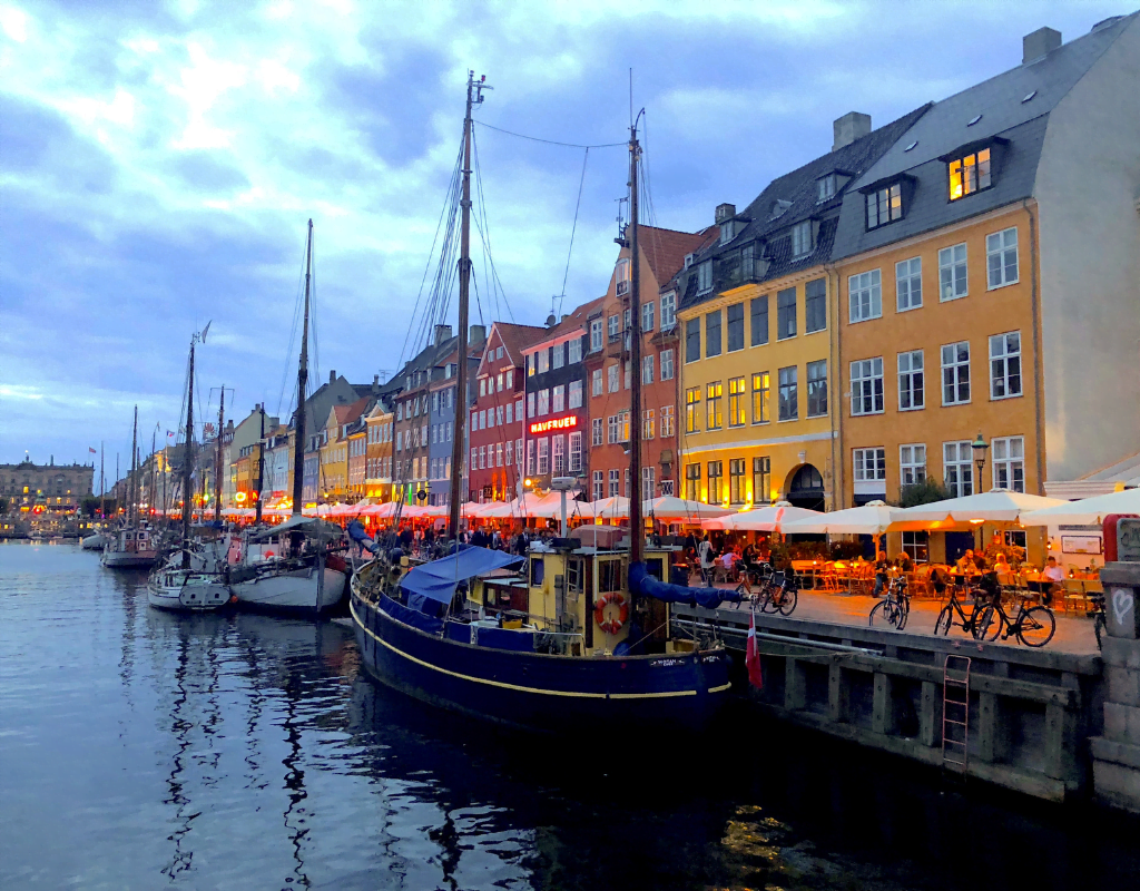
{"type": "Polygon", "coordinates": [[[472,322],[542,324],[552,302],[569,311],[605,292],[628,156],[500,130],[622,143],[632,71],[643,221],[693,232],[717,204],[743,206],[830,151],[846,112],[888,123],[1018,65],[1037,27],[1068,41],[1130,11],[1100,0],[0,0],[0,463],[97,463],[89,448],[105,444],[109,478],[116,453],[129,462],[136,404],[140,440],[148,451],[156,432],[161,447],[207,322],[201,407],[215,413],[225,384],[227,413],[263,402],[287,416],[310,218],[311,379],[394,372],[431,269],[469,70],[494,88],[475,146],[502,285],[488,283],[475,233],[472,322]]]}

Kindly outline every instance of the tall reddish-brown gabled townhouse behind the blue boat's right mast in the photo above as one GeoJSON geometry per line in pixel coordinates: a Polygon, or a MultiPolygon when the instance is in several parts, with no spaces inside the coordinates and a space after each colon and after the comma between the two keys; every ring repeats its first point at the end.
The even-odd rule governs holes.
{"type": "Polygon", "coordinates": [[[621,248],[610,285],[601,305],[588,316],[589,337],[585,367],[589,403],[589,495],[630,497],[629,416],[630,388],[642,395],[641,497],[674,494],[677,451],[677,334],[676,290],[666,287],[685,258],[699,251],[712,232],[675,232],[653,226],[637,230],[642,366],[630,366],[632,246],[629,228],[619,238],[621,248]]]}

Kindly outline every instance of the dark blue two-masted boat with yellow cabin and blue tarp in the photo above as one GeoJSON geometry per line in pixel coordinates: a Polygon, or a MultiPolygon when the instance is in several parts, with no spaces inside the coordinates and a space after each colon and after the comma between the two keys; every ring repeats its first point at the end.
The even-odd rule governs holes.
{"type": "MultiPolygon", "coordinates": [[[[467,370],[471,108],[482,100],[483,87],[473,74],[469,76],[462,152],[459,394],[466,392],[467,370]]],[[[632,222],[626,235],[632,256],[640,257],[635,128],[636,123],[630,128],[632,222]]],[[[641,318],[638,282],[634,274],[627,311],[635,319],[641,318]]],[[[585,339],[587,332],[579,335],[585,339]]],[[[641,367],[641,338],[630,342],[632,366],[641,367]]],[[[636,388],[630,399],[630,414],[638,418],[636,388]]],[[[455,467],[463,460],[466,415],[456,414],[455,467]]],[[[634,423],[630,432],[630,473],[640,480],[640,424],[634,423]]],[[[561,477],[554,483],[565,497],[577,480],[561,477]]],[[[459,527],[463,488],[461,475],[454,473],[453,537],[459,527]]],[[[716,606],[725,592],[662,581],[670,552],[645,552],[640,500],[630,504],[634,534],[627,550],[567,538],[564,527],[563,510],[563,537],[553,549],[536,548],[524,558],[469,548],[422,566],[412,566],[399,551],[366,542],[376,558],[353,575],[350,601],[366,670],[383,683],[445,708],[542,731],[705,726],[731,687],[730,657],[715,626],[698,627],[695,637],[675,637],[669,604],[716,606]],[[521,574],[492,575],[520,564],[521,574]]],[[[363,537],[361,530],[356,537],[363,537]]]]}

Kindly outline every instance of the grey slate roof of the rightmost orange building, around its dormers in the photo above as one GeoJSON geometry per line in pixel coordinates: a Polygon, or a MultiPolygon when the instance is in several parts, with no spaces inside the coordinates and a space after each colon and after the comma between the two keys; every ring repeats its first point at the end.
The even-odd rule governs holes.
{"type": "MultiPolygon", "coordinates": [[[[1036,62],[1018,65],[935,103],[861,176],[848,185],[832,248],[832,259],[902,241],[1033,195],[1049,113],[1085,75],[1140,13],[1107,21],[1036,62]],[[1026,100],[1026,97],[1033,98],[1026,100]],[[982,115],[977,123],[969,121],[982,115]],[[950,201],[944,156],[962,146],[1000,137],[1009,140],[994,185],[950,201]],[[917,143],[911,151],[909,145],[917,143]],[[865,203],[858,189],[913,177],[914,192],[903,219],[866,232],[865,203]]],[[[1140,86],[1138,86],[1140,87],[1140,86]]]]}

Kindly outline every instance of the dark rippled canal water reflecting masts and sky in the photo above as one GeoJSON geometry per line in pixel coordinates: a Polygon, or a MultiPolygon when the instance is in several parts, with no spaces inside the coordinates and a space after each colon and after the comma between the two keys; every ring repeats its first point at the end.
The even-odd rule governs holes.
{"type": "Polygon", "coordinates": [[[738,712],[652,745],[440,714],[336,623],[178,617],[0,544],[0,888],[1118,889],[1140,823],[738,712]]]}

